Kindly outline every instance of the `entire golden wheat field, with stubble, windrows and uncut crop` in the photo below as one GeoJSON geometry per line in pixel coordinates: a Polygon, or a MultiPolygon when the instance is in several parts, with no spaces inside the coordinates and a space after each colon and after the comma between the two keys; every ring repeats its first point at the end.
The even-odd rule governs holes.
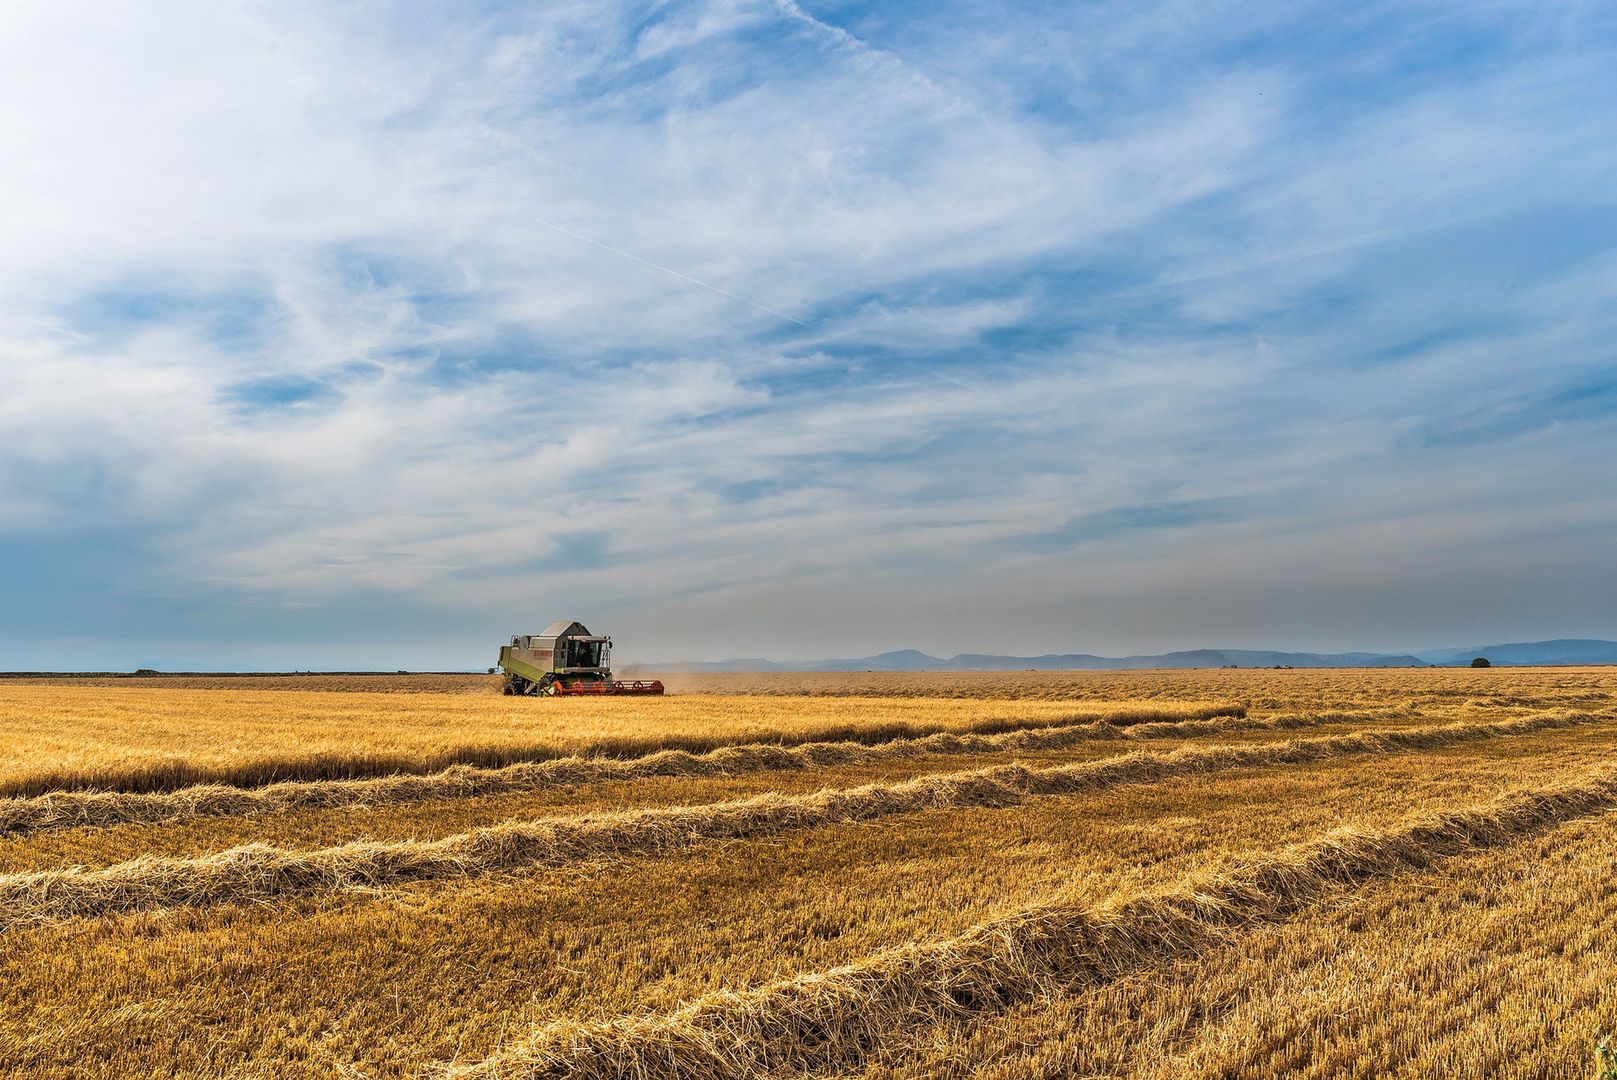
{"type": "Polygon", "coordinates": [[[15,1077],[1588,1077],[1617,669],[0,681],[15,1077]]]}

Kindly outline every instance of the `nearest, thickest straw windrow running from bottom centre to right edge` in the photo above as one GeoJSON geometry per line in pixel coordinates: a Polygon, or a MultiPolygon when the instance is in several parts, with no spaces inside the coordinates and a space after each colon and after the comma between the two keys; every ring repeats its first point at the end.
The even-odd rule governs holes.
{"type": "Polygon", "coordinates": [[[1331,891],[1499,847],[1612,807],[1617,770],[1591,771],[1573,784],[1423,815],[1399,829],[1340,829],[1166,894],[1100,909],[1035,905],[959,938],[710,994],[673,1014],[548,1023],[450,1075],[671,1080],[847,1069],[917,1025],[1100,985],[1208,947],[1231,930],[1282,920],[1331,891]]]}

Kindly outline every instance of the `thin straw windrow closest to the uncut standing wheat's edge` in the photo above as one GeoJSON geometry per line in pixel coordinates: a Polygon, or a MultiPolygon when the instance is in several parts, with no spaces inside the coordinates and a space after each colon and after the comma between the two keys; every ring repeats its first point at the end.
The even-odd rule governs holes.
{"type": "Polygon", "coordinates": [[[734,776],[739,773],[792,771],[897,761],[927,757],[964,757],[1062,750],[1096,740],[1185,739],[1235,731],[1295,731],[1326,724],[1383,719],[1376,713],[1284,715],[1264,719],[1218,716],[1213,719],[1153,721],[1119,726],[1091,721],[1061,728],[1024,728],[999,734],[938,732],[888,742],[749,744],[707,753],[661,750],[640,758],[553,758],[505,768],[456,765],[429,776],[382,776],[354,781],[285,781],[265,787],[201,784],[173,792],[58,791],[31,799],[0,800],[0,833],[110,825],[163,825],[194,818],[223,818],[275,810],[330,810],[336,807],[385,807],[445,799],[475,799],[547,787],[572,787],[668,776],[734,776]]]}

